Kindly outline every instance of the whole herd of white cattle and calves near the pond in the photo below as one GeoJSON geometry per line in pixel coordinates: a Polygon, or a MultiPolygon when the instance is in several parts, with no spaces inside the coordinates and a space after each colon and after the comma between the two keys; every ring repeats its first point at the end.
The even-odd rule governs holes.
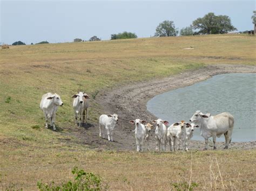
{"type": "MultiPolygon", "coordinates": [[[[82,126],[82,123],[87,123],[89,99],[90,97],[83,92],[79,92],[73,95],[73,110],[75,113],[76,124],[82,126]]],[[[44,112],[45,116],[45,128],[48,128],[48,121],[51,122],[53,130],[56,130],[55,117],[56,111],[59,106],[62,106],[63,102],[58,94],[47,93],[42,96],[40,108],[44,112]]],[[[207,150],[208,138],[213,138],[213,149],[216,149],[216,137],[225,136],[225,149],[231,142],[232,131],[234,127],[234,117],[228,112],[221,113],[219,115],[212,116],[211,114],[203,114],[201,111],[196,111],[190,118],[191,123],[180,121],[170,126],[169,122],[162,119],[153,120],[152,123],[156,124],[156,150],[160,151],[160,146],[163,146],[163,151],[166,150],[166,145],[169,143],[170,150],[176,150],[176,144],[178,144],[178,150],[180,145],[183,146],[185,151],[188,151],[188,140],[193,137],[194,128],[200,128],[200,134],[205,138],[205,148],[207,150]]],[[[102,128],[105,128],[109,141],[113,141],[113,130],[118,123],[118,115],[101,115],[99,117],[99,137],[102,137],[102,128]]],[[[145,120],[135,119],[129,121],[129,123],[135,125],[135,138],[137,151],[143,151],[143,144],[147,142],[147,150],[149,148],[149,135],[154,126],[145,120]]],[[[104,137],[104,133],[103,133],[104,137]]]]}

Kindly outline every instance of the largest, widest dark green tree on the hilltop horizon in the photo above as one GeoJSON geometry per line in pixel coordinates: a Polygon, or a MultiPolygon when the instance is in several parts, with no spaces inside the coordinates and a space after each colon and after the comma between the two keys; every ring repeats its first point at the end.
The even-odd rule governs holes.
{"type": "Polygon", "coordinates": [[[203,18],[198,18],[192,23],[193,29],[199,30],[198,34],[224,34],[237,30],[232,24],[230,17],[226,15],[215,16],[213,12],[203,18]]]}

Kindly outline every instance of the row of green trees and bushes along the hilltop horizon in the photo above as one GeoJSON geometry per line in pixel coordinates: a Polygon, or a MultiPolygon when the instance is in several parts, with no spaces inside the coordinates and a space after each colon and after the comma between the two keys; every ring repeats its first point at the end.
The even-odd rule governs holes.
{"type": "MultiPolygon", "coordinates": [[[[252,23],[256,24],[256,11],[253,11],[252,23]]],[[[213,12],[207,13],[204,17],[197,18],[192,22],[190,26],[187,26],[180,31],[175,27],[174,22],[172,20],[164,20],[164,22],[159,23],[156,28],[156,32],[154,33],[155,37],[171,37],[177,36],[191,36],[191,35],[199,35],[199,34],[225,34],[230,31],[235,31],[235,28],[231,24],[230,17],[226,15],[214,15],[213,12]]],[[[136,33],[126,32],[111,34],[111,40],[116,39],[131,39],[137,38],[136,33]]],[[[101,40],[97,36],[91,37],[88,41],[99,41],[101,40]]],[[[73,40],[74,42],[82,42],[86,40],[82,40],[80,38],[76,38],[73,40]]],[[[42,41],[37,44],[47,44],[48,41],[42,41]]],[[[32,43],[31,43],[32,44],[32,43]]],[[[22,41],[16,41],[12,45],[25,45],[22,41]]]]}

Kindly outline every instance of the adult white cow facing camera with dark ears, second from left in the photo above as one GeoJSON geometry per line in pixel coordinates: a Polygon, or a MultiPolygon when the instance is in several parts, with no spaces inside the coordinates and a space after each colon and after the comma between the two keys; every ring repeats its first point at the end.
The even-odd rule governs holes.
{"type": "Polygon", "coordinates": [[[82,126],[82,122],[84,123],[85,115],[86,115],[85,122],[87,123],[90,97],[86,93],[83,93],[80,91],[78,94],[73,95],[72,98],[75,98],[73,100],[73,109],[75,112],[76,124],[78,126],[82,126]],[[79,123],[77,123],[78,117],[79,117],[79,123]]]}

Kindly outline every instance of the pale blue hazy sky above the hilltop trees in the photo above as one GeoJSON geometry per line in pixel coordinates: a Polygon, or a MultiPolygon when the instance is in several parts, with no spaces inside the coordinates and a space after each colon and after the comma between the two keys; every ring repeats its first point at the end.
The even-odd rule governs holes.
{"type": "Polygon", "coordinates": [[[238,31],[253,30],[255,1],[12,1],[0,0],[0,42],[25,44],[72,42],[97,36],[133,32],[138,38],[153,36],[164,20],[179,30],[208,12],[227,15],[238,31]]]}

